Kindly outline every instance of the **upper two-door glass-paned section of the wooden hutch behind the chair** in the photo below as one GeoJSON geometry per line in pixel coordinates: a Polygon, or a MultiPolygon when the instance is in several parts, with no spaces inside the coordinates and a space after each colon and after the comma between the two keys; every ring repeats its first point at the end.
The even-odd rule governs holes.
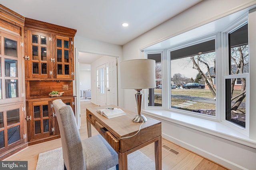
{"type": "Polygon", "coordinates": [[[75,33],[75,29],[26,18],[26,80],[74,80],[75,33]]]}

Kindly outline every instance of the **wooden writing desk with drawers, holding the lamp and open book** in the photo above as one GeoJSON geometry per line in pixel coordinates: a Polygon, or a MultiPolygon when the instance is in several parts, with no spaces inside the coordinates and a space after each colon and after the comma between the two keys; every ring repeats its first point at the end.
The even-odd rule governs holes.
{"type": "Polygon", "coordinates": [[[91,125],[93,125],[118,153],[119,170],[127,170],[128,154],[154,142],[156,170],[162,170],[161,121],[147,117],[148,121],[144,122],[137,135],[130,138],[120,139],[122,137],[132,136],[138,131],[141,123],[134,123],[132,121],[137,113],[121,108],[127,113],[127,115],[107,119],[100,113],[96,112],[97,109],[103,109],[106,107],[117,106],[100,106],[86,109],[88,137],[92,136],[91,125]],[[107,129],[106,132],[101,130],[101,128],[104,127],[107,129]]]}

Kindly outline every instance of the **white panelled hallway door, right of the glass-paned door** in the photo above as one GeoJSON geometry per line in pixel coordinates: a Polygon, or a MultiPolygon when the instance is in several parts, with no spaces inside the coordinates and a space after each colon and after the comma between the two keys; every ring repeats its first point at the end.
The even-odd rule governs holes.
{"type": "Polygon", "coordinates": [[[106,104],[118,106],[117,94],[117,58],[110,57],[106,64],[106,104]]]}

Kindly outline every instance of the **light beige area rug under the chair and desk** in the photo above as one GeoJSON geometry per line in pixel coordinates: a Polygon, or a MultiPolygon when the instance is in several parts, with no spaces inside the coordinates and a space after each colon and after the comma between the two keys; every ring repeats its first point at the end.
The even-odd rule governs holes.
{"type": "MultiPolygon", "coordinates": [[[[128,170],[154,170],[155,162],[139,150],[128,154],[128,170]]],[[[49,150],[38,155],[36,170],[64,170],[62,148],[49,150]]],[[[108,169],[116,170],[116,166],[108,169]]]]}

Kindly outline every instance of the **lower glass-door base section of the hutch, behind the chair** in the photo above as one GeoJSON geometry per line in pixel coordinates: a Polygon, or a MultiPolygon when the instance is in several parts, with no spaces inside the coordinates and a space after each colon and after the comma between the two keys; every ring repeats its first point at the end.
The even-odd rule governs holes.
{"type": "MultiPolygon", "coordinates": [[[[52,139],[60,138],[57,117],[52,104],[53,100],[30,100],[27,102],[28,115],[26,117],[28,131],[28,145],[34,145],[52,139]]],[[[66,104],[75,110],[74,97],[61,98],[66,104]]],[[[74,112],[75,113],[75,112],[74,112]]]]}

